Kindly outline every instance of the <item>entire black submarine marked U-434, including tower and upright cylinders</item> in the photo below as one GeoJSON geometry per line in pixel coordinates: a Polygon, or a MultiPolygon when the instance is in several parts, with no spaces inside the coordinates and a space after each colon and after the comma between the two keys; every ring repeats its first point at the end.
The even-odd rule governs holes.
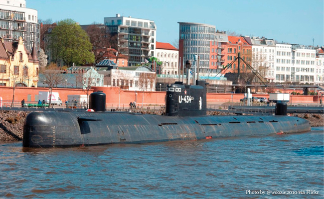
{"type": "Polygon", "coordinates": [[[102,144],[140,144],[173,140],[301,133],[309,121],[287,116],[287,104],[277,103],[275,115],[207,115],[206,82],[168,85],[164,115],[111,112],[106,95],[90,95],[89,111],[42,111],[27,115],[23,147],[75,147],[102,144]]]}

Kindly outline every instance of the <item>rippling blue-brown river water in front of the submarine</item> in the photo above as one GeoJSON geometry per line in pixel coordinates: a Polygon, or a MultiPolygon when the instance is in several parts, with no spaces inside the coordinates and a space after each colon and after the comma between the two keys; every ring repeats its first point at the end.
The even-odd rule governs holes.
{"type": "Polygon", "coordinates": [[[0,144],[0,198],[324,197],[323,127],[141,145],[21,145],[0,144]]]}

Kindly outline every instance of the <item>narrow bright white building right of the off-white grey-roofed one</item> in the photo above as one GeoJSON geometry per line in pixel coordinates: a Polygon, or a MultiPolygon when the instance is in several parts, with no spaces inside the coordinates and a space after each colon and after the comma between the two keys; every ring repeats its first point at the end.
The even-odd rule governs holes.
{"type": "Polygon", "coordinates": [[[276,83],[294,82],[295,69],[292,60],[292,45],[287,43],[277,43],[275,54],[275,75],[276,83]]]}

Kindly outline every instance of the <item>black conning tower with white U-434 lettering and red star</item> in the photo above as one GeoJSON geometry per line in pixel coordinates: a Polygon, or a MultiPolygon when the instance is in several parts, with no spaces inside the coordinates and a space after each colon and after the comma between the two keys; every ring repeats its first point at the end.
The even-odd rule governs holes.
{"type": "Polygon", "coordinates": [[[205,116],[206,83],[196,80],[196,85],[183,85],[182,82],[166,87],[165,115],[169,116],[205,116]]]}

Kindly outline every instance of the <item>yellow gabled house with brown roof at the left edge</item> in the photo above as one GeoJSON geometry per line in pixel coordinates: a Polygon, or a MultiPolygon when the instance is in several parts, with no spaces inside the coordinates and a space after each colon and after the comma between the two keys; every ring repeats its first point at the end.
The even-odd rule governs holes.
{"type": "Polygon", "coordinates": [[[36,48],[30,53],[18,42],[0,41],[0,85],[6,87],[37,87],[39,61],[36,48]]]}

